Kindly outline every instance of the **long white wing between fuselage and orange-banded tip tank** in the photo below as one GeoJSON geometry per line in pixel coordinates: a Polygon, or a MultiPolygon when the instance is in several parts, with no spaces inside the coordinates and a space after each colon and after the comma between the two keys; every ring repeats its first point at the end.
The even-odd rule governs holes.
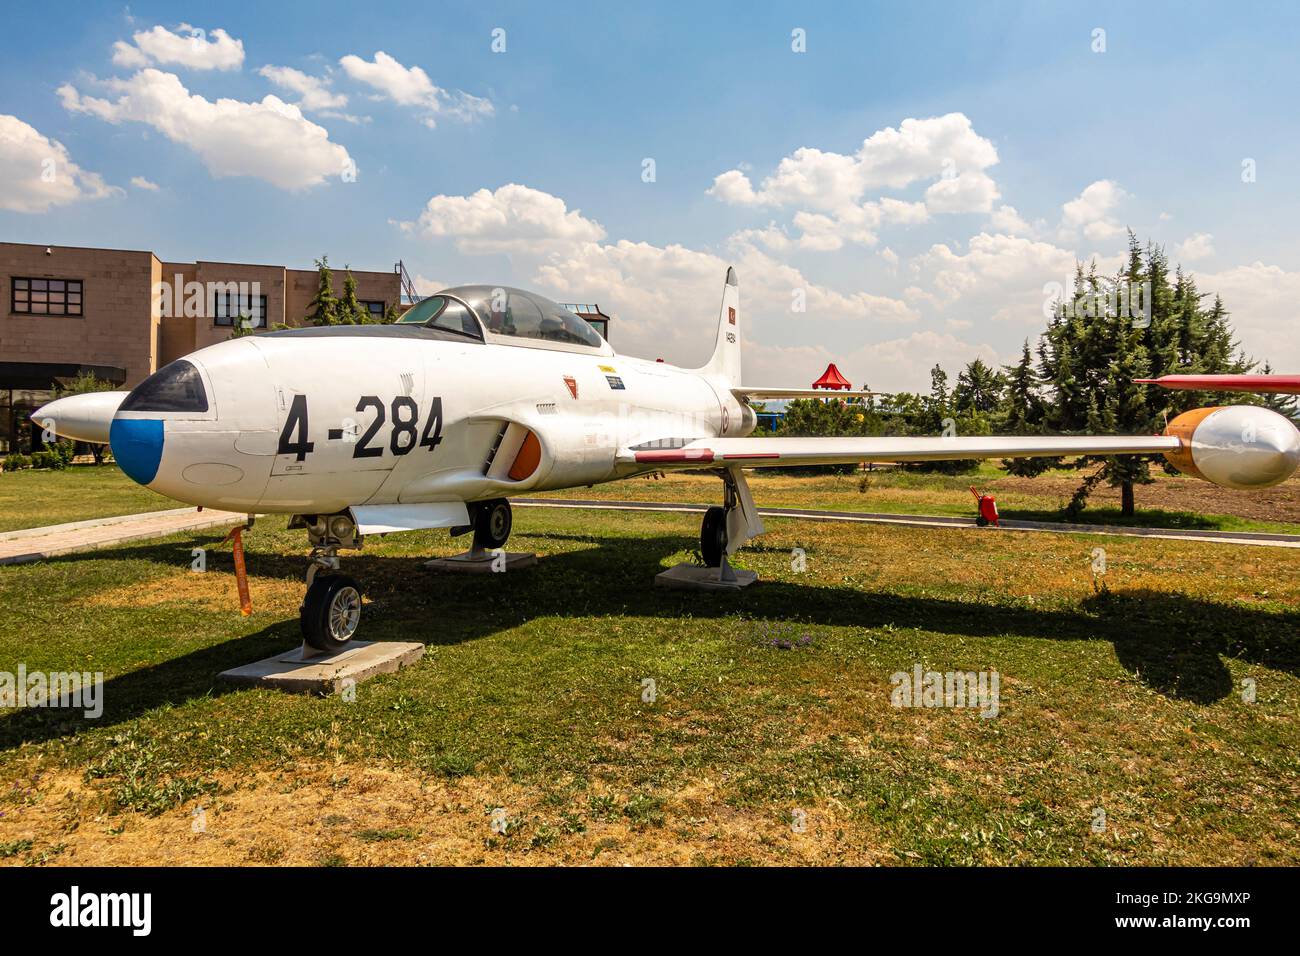
{"type": "Polygon", "coordinates": [[[954,438],[697,438],[680,447],[629,447],[619,460],[668,468],[746,468],[855,462],[944,462],[959,458],[1054,458],[1176,451],[1175,436],[970,436],[954,438]]]}

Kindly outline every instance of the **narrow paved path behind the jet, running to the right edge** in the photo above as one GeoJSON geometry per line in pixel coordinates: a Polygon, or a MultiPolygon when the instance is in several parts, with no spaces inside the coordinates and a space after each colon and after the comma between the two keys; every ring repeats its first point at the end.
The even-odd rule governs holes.
{"type": "MultiPolygon", "coordinates": [[[[601,501],[598,498],[511,498],[523,507],[576,507],[599,511],[685,511],[703,512],[708,505],[653,501],[601,501]]],[[[922,528],[975,528],[974,518],[940,515],[893,515],[871,511],[818,511],[793,507],[760,507],[764,518],[801,518],[810,522],[857,522],[862,524],[910,524],[922,528]]],[[[1261,548],[1300,548],[1300,535],[1274,535],[1256,531],[1191,531],[1180,528],[1126,528],[1115,524],[1069,524],[1063,522],[1013,522],[1004,519],[1004,531],[1046,531],[1057,535],[1115,535],[1126,537],[1164,537],[1176,541],[1209,541],[1221,545],[1253,545],[1261,548]]],[[[980,528],[980,531],[984,531],[980,528]]],[[[989,528],[988,531],[997,531],[989,528]]]]}

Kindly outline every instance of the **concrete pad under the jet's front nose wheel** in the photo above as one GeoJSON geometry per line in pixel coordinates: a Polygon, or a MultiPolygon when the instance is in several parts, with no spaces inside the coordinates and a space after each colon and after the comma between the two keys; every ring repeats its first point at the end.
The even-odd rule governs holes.
{"type": "Polygon", "coordinates": [[[352,641],[337,654],[304,654],[300,648],[222,671],[217,679],[244,687],[270,687],[289,693],[334,695],[347,683],[410,667],[424,656],[422,644],[352,641]]]}

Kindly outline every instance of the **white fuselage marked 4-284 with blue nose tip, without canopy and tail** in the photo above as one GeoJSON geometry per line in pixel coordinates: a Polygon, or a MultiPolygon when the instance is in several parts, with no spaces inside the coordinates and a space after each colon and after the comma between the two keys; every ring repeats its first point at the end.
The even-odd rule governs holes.
{"type": "Polygon", "coordinates": [[[651,470],[616,462],[620,447],[754,428],[725,381],[689,369],[421,333],[334,326],[209,346],[183,359],[205,407],[120,410],[114,455],[191,505],[330,512],[598,484],[651,470]]]}

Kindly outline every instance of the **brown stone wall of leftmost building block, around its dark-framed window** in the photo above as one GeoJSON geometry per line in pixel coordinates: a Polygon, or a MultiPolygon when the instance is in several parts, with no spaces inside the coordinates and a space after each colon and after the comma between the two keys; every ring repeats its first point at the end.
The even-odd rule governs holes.
{"type": "Polygon", "coordinates": [[[133,388],[155,369],[152,252],[0,243],[0,360],[113,365],[133,388]],[[82,315],[13,312],[13,278],[81,280],[82,315]]]}

